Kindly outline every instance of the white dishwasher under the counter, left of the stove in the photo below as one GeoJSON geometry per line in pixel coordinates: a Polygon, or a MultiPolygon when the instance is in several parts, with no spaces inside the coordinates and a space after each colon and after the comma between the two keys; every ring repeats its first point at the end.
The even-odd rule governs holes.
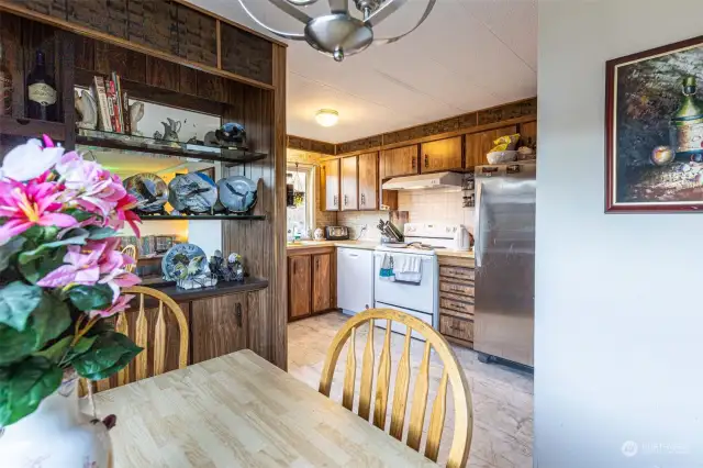
{"type": "Polygon", "coordinates": [[[373,307],[373,252],[337,247],[337,308],[354,315],[373,307]]]}

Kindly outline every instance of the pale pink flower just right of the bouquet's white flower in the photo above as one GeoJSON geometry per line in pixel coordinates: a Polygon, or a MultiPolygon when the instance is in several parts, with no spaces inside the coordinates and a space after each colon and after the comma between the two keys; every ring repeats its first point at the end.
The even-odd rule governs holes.
{"type": "Polygon", "coordinates": [[[126,196],[119,176],[98,163],[83,160],[76,152],[65,154],[56,165],[56,171],[66,186],[67,199],[105,220],[118,201],[126,196]]]}

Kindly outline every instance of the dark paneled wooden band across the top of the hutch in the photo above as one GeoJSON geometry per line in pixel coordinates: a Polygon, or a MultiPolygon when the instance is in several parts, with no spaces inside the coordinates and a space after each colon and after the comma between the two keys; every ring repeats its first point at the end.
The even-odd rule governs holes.
{"type": "Polygon", "coordinates": [[[180,0],[0,0],[0,9],[272,89],[277,41],[180,0]]]}

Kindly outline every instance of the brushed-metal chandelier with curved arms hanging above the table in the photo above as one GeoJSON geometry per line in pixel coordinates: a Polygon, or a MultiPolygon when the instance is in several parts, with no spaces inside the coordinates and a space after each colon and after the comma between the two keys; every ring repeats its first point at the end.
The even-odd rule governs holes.
{"type": "Polygon", "coordinates": [[[246,13],[259,25],[274,34],[292,40],[306,41],[313,48],[325,55],[331,55],[336,62],[344,60],[347,55],[354,55],[373,44],[390,44],[406,36],[420,26],[435,5],[436,0],[428,0],[425,12],[420,21],[408,32],[395,37],[373,38],[373,27],[401,8],[408,0],[354,0],[356,9],[362,19],[353,16],[349,12],[349,0],[327,0],[331,14],[310,18],[298,7],[308,7],[317,0],[269,0],[278,9],[293,16],[305,25],[302,33],[286,33],[267,26],[259,21],[239,0],[246,13]]]}

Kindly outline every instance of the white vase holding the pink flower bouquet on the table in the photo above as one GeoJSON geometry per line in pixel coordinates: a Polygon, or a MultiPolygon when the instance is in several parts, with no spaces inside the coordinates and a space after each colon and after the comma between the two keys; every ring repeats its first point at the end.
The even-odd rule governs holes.
{"type": "Polygon", "coordinates": [[[75,372],[65,375],[34,413],[0,430],[3,468],[112,467],[108,421],[114,416],[103,423],[81,413],[77,382],[75,372]]]}

